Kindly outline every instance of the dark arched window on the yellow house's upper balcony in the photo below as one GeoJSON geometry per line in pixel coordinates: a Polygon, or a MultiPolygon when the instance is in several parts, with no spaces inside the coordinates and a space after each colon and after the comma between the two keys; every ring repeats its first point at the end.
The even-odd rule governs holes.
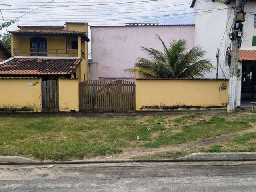
{"type": "Polygon", "coordinates": [[[33,37],[30,39],[31,56],[47,56],[47,40],[43,37],[33,37]]]}

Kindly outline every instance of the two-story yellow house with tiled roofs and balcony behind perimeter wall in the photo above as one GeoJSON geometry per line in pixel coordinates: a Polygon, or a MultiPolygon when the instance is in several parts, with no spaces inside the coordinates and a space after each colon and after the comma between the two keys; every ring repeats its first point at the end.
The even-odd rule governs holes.
{"type": "Polygon", "coordinates": [[[12,57],[0,65],[0,76],[88,80],[88,25],[18,26],[10,31],[12,57]]]}

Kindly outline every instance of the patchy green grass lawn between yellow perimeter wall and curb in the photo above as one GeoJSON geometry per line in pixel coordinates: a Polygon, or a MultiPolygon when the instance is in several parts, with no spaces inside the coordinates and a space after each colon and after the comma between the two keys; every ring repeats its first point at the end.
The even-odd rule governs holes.
{"type": "MultiPolygon", "coordinates": [[[[253,124],[256,124],[256,113],[245,112],[89,118],[1,117],[0,155],[42,160],[92,158],[121,153],[126,148],[178,145],[250,129],[253,124]]],[[[225,148],[228,144],[219,144],[202,150],[236,150],[237,145],[251,142],[251,148],[246,150],[256,151],[256,133],[228,142],[233,147],[225,148]]]]}

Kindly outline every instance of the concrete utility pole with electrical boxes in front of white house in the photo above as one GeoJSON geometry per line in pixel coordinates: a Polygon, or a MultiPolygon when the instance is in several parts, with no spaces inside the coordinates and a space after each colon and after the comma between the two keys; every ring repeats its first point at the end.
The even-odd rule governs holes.
{"type": "Polygon", "coordinates": [[[244,0],[236,0],[236,7],[234,11],[235,23],[233,24],[232,36],[232,50],[231,50],[231,64],[229,76],[229,90],[228,90],[228,112],[236,111],[236,92],[238,85],[238,59],[239,49],[241,44],[242,22],[245,20],[244,14],[244,0]],[[242,16],[242,17],[241,17],[242,16]]]}

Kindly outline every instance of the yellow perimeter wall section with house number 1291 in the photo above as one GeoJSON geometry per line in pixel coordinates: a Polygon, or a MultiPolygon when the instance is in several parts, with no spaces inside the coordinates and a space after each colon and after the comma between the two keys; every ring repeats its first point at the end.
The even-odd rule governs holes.
{"type": "Polygon", "coordinates": [[[0,78],[0,108],[42,110],[41,78],[0,78]]]}

